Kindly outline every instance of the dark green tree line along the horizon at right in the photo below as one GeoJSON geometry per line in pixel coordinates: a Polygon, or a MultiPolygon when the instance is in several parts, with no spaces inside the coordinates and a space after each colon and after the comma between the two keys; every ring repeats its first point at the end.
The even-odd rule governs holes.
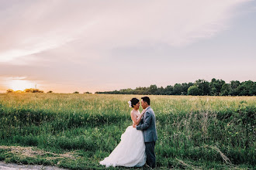
{"type": "Polygon", "coordinates": [[[142,95],[193,95],[193,96],[254,96],[256,95],[256,82],[248,80],[241,82],[232,80],[226,83],[224,80],[213,78],[210,82],[206,80],[196,80],[195,83],[175,83],[174,86],[157,87],[137,87],[136,89],[121,89],[114,91],[104,91],[95,93],[108,94],[142,94],[142,95]]]}

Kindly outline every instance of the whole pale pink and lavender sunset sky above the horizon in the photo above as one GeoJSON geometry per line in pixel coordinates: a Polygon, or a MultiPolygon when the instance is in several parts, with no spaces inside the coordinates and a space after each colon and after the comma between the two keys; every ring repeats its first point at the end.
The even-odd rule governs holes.
{"type": "Polygon", "coordinates": [[[256,81],[254,0],[1,0],[0,92],[256,81]]]}

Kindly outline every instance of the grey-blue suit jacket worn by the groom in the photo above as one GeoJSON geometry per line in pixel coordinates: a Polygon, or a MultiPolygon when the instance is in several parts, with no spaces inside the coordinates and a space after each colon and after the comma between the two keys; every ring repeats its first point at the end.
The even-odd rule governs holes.
{"type": "Polygon", "coordinates": [[[156,117],[151,107],[147,107],[143,119],[137,125],[137,130],[143,131],[144,142],[157,141],[156,117]]]}

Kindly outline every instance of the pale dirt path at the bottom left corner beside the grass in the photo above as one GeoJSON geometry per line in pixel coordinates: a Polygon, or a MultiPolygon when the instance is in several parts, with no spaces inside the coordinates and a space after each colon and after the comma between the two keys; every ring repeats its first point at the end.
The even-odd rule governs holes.
{"type": "Polygon", "coordinates": [[[0,162],[0,170],[67,170],[67,168],[57,168],[54,166],[43,166],[43,165],[17,165],[17,164],[6,164],[0,162]]]}

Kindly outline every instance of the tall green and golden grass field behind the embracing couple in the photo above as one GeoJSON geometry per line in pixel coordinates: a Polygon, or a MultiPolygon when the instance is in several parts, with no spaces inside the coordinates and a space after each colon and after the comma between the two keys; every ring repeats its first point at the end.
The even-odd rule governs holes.
{"type": "MultiPolygon", "coordinates": [[[[0,161],[103,169],[99,161],[132,124],[132,97],[142,96],[0,94],[0,161]]],[[[157,168],[256,166],[256,97],[149,97],[157,168]]]]}

